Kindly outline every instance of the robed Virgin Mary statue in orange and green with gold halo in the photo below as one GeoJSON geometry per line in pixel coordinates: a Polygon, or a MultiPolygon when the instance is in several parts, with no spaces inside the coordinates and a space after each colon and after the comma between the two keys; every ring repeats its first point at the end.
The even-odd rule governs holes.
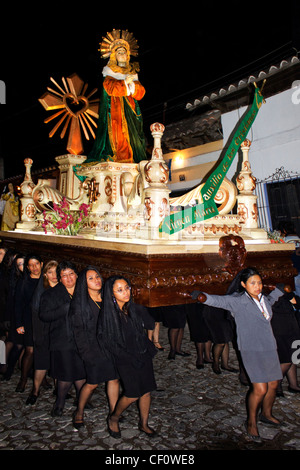
{"type": "Polygon", "coordinates": [[[127,30],[113,30],[100,43],[103,59],[103,91],[94,146],[85,163],[116,161],[138,163],[146,160],[143,120],[138,101],[145,88],[138,79],[138,63],[130,56],[138,52],[137,41],[127,30]]]}

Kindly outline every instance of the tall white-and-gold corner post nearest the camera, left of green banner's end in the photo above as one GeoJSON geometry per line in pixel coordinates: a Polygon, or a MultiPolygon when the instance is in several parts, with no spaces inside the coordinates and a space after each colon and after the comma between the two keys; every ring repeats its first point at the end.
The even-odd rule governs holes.
{"type": "Polygon", "coordinates": [[[161,149],[161,138],[164,126],[154,123],[150,127],[154,139],[152,158],[144,166],[145,188],[144,219],[146,226],[151,229],[151,238],[160,238],[158,227],[162,220],[170,213],[169,193],[167,186],[169,168],[166,165],[161,149]]]}

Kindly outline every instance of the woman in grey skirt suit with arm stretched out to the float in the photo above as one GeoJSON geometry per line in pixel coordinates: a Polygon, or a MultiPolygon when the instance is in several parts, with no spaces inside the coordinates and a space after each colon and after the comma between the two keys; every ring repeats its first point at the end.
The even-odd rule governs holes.
{"type": "Polygon", "coordinates": [[[237,329],[237,343],[252,387],[248,395],[247,434],[259,442],[257,414],[260,421],[279,426],[272,415],[278,381],[282,372],[277,344],[271,327],[272,305],[283,295],[277,287],[269,296],[262,293],[262,278],[255,268],[246,268],[238,274],[238,291],[231,295],[209,295],[199,291],[192,297],[199,302],[229,310],[237,329]]]}

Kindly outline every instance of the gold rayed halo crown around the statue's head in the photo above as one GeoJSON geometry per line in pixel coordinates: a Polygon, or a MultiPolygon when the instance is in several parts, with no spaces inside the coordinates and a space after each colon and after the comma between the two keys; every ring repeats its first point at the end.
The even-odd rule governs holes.
{"type": "Polygon", "coordinates": [[[103,41],[100,43],[101,57],[107,59],[112,51],[117,47],[125,47],[129,54],[132,56],[138,55],[138,43],[137,40],[133,37],[132,33],[129,33],[126,30],[113,29],[111,33],[107,33],[106,37],[102,38],[103,41]]]}

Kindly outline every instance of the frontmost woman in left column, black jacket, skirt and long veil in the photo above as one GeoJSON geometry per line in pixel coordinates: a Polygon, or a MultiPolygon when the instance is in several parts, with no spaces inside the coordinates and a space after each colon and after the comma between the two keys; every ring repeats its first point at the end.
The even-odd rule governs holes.
{"type": "Polygon", "coordinates": [[[151,391],[156,389],[152,359],[157,350],[144,330],[142,315],[131,299],[129,281],[112,276],[105,282],[103,311],[98,341],[110,351],[123,387],[123,395],[107,418],[108,432],[121,437],[119,419],[126,408],[138,400],[139,430],[153,437],[148,425],[151,391]]]}

